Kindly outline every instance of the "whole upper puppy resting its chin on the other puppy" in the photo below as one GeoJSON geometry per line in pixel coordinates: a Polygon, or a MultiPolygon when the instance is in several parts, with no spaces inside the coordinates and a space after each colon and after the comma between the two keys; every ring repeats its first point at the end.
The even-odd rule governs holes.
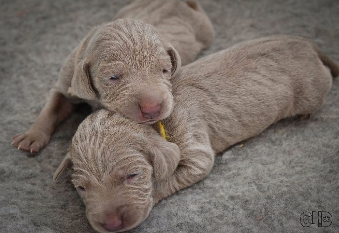
{"type": "Polygon", "coordinates": [[[181,56],[188,63],[211,44],[213,27],[194,1],[136,1],[118,12],[120,17],[153,23],[158,31],[132,19],[95,27],[67,58],[33,126],[13,136],[18,149],[43,148],[80,102],[138,123],[168,117],[173,107],[171,75],[181,66],[181,56]]]}

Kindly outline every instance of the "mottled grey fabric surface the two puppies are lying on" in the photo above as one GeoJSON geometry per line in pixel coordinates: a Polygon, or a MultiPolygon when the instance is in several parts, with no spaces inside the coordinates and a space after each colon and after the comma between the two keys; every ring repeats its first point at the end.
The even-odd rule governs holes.
{"type": "MultiPolygon", "coordinates": [[[[12,146],[11,136],[35,121],[81,38],[128,2],[0,1],[0,232],[95,232],[70,172],[52,180],[88,111],[61,124],[34,157],[12,146]]],[[[216,31],[200,56],[283,33],[309,38],[339,62],[336,0],[199,2],[216,31]]],[[[338,93],[335,79],[310,120],[283,120],[229,148],[204,180],[157,204],[130,232],[339,232],[338,93]],[[327,211],[332,224],[303,227],[304,211],[327,211]]]]}

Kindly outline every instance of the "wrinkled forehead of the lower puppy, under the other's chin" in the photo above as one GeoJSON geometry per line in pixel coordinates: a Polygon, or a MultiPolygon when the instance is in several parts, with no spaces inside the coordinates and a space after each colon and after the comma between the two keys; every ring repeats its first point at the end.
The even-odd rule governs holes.
{"type": "Polygon", "coordinates": [[[72,140],[74,172],[101,179],[107,172],[148,168],[139,127],[107,110],[92,113],[79,125],[72,140]]]}

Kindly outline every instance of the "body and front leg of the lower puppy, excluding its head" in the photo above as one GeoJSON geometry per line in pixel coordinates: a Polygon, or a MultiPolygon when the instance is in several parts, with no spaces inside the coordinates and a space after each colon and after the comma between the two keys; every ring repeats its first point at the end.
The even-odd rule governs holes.
{"type": "Polygon", "coordinates": [[[182,68],[174,110],[163,120],[181,151],[177,170],[156,182],[153,201],[203,178],[215,153],[273,123],[318,110],[338,66],[309,41],[278,35],[241,43],[182,68]]]}

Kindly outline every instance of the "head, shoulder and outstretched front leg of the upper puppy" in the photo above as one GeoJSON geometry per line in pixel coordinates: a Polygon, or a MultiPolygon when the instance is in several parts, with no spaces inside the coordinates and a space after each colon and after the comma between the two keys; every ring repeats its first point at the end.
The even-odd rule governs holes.
{"type": "Polygon", "coordinates": [[[177,51],[150,24],[118,19],[95,27],[67,58],[36,122],[12,144],[37,152],[80,102],[137,123],[166,118],[173,107],[171,75],[180,65],[177,51]]]}

